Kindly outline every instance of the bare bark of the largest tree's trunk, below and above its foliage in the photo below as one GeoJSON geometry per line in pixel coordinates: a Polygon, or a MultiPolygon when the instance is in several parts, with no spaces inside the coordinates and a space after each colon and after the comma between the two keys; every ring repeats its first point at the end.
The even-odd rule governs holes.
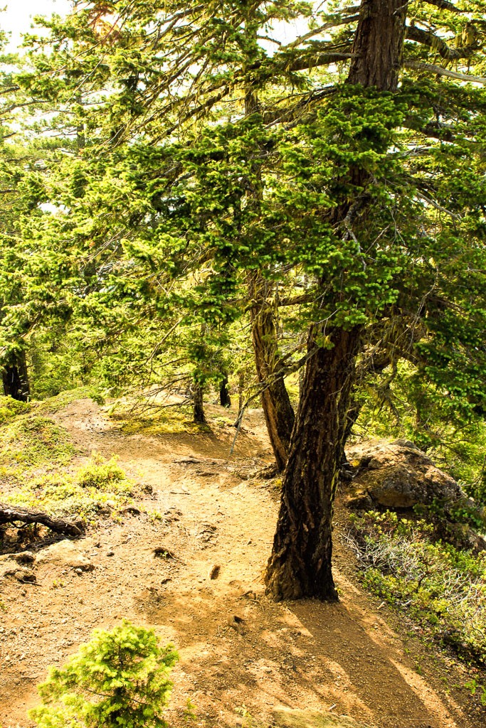
{"type": "MultiPolygon", "coordinates": [[[[348,82],[396,90],[407,3],[362,0],[348,82]]],[[[353,183],[366,181],[359,167],[353,183]]],[[[335,210],[345,219],[348,207],[335,210]]],[[[332,578],[332,510],[345,446],[347,415],[361,330],[331,329],[331,349],[316,348],[310,330],[305,371],[289,461],[283,475],[281,508],[265,582],[273,598],[337,600],[332,578]]]]}

